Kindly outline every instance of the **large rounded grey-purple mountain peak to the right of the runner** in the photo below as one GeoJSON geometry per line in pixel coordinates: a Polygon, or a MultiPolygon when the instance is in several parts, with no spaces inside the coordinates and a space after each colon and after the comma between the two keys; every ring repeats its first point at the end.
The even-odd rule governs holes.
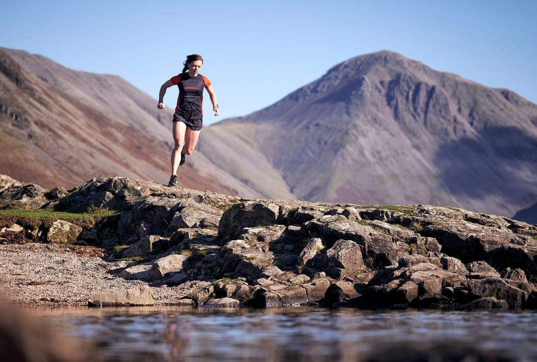
{"type": "Polygon", "coordinates": [[[505,216],[537,202],[537,106],[390,51],[207,127],[199,150],[271,198],[505,216]]]}

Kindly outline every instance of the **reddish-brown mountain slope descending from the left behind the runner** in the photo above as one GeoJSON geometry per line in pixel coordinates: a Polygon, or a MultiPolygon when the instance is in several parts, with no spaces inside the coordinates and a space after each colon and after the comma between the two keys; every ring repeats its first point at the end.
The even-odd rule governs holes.
{"type": "MultiPolygon", "coordinates": [[[[167,183],[172,110],[118,76],[0,48],[0,173],[71,188],[99,176],[167,183]]],[[[179,184],[236,194],[185,165],[179,184]]]]}

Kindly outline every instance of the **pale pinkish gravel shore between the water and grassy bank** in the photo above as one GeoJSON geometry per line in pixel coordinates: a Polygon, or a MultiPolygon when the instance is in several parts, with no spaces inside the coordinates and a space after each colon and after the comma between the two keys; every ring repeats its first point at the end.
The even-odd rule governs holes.
{"type": "MultiPolygon", "coordinates": [[[[104,260],[103,250],[57,244],[0,245],[0,294],[22,305],[88,305],[90,295],[145,285],[112,272],[118,262],[104,260]]],[[[155,304],[173,304],[182,295],[151,287],[155,304]]]]}

